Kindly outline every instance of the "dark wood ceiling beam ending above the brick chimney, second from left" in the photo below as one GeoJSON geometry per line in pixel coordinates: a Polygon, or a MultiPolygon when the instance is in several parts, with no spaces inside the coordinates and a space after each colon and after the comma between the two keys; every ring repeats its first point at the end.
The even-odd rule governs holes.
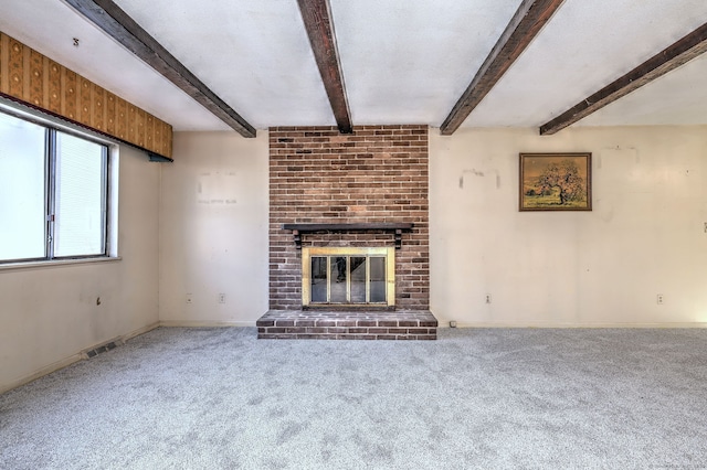
{"type": "Polygon", "coordinates": [[[297,0],[339,132],[351,133],[351,115],[328,0],[297,0]]]}

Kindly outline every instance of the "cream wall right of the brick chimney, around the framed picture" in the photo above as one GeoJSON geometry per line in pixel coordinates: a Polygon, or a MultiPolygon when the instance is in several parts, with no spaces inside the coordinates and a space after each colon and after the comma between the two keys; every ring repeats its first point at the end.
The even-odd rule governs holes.
{"type": "Polygon", "coordinates": [[[707,127],[432,129],[430,180],[441,324],[707,322],[707,127]],[[546,151],[593,153],[592,212],[518,212],[518,153],[546,151]]]}

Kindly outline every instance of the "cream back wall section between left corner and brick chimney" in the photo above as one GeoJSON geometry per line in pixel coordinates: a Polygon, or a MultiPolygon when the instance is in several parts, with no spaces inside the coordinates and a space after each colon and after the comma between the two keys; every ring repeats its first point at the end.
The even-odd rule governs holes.
{"type": "Polygon", "coordinates": [[[176,132],[173,148],[162,167],[160,321],[254,325],[267,311],[267,131],[176,132]]]}

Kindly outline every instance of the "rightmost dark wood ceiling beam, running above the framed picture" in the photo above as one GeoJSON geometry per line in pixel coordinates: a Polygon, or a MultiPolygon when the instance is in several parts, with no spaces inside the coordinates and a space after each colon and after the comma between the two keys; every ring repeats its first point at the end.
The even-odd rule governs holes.
{"type": "Polygon", "coordinates": [[[707,51],[707,23],[658,52],[621,78],[582,99],[551,121],[540,126],[540,135],[549,136],[564,129],[610,103],[684,65],[705,51],[707,51]]]}

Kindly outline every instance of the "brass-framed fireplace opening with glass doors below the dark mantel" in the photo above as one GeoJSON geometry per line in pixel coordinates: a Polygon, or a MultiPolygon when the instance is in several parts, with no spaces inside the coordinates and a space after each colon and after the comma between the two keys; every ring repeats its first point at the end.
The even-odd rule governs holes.
{"type": "Polygon", "coordinates": [[[395,305],[393,247],[303,247],[303,307],[395,305]]]}

